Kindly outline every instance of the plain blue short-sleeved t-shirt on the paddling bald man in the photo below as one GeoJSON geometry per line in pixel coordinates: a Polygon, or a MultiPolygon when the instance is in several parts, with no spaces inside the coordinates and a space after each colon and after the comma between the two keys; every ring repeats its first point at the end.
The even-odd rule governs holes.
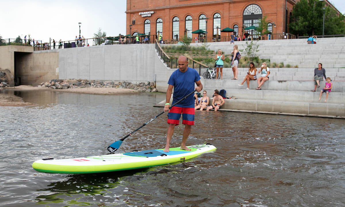
{"type": "MultiPolygon", "coordinates": [[[[169,85],[174,86],[174,95],[172,97],[171,105],[194,91],[194,83],[198,80],[200,80],[200,76],[198,72],[193,68],[187,67],[186,72],[181,72],[179,69],[175,70],[171,74],[168,81],[169,85]]],[[[175,106],[183,108],[194,108],[194,98],[192,95],[190,95],[175,106]]]]}

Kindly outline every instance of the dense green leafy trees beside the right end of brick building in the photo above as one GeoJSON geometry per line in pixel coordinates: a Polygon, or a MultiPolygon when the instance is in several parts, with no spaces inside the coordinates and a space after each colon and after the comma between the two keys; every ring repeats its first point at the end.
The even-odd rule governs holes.
{"type": "MultiPolygon", "coordinates": [[[[323,7],[325,3],[319,0],[298,1],[290,18],[290,33],[299,36],[322,35],[323,7]]],[[[344,15],[337,15],[334,9],[326,7],[325,34],[344,34],[344,31],[344,15]]]]}

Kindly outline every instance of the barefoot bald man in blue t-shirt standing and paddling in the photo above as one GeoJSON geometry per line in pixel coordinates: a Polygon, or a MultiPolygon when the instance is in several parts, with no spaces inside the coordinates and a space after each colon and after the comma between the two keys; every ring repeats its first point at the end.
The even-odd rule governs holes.
{"type": "Polygon", "coordinates": [[[187,138],[190,134],[191,126],[194,125],[194,98],[193,96],[188,96],[186,99],[180,101],[178,104],[173,106],[170,110],[170,97],[172,88],[174,88],[174,96],[172,97],[172,103],[174,104],[178,100],[182,99],[189,93],[194,91],[194,83],[197,87],[195,90],[200,92],[203,89],[203,85],[200,82],[200,76],[198,72],[188,67],[188,61],[185,56],[180,56],[177,60],[178,69],[175,70],[168,81],[168,89],[166,95],[166,104],[164,107],[164,112],[168,111],[168,131],[167,131],[167,143],[164,152],[169,152],[170,139],[172,134],[174,134],[175,126],[179,125],[179,119],[182,114],[182,124],[185,125],[185,130],[183,131],[183,138],[180,149],[190,150],[186,147],[187,138]]]}

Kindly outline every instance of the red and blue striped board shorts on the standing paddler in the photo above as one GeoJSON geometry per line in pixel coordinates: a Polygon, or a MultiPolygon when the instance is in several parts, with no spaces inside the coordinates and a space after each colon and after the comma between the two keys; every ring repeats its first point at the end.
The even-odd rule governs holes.
{"type": "Polygon", "coordinates": [[[168,112],[168,124],[180,124],[180,117],[182,114],[182,124],[194,125],[194,108],[183,108],[173,106],[168,112]]]}

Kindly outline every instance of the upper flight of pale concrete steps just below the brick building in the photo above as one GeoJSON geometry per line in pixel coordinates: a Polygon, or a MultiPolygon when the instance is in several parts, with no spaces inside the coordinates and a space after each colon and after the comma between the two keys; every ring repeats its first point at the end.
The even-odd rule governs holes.
{"type": "MultiPolygon", "coordinates": [[[[237,41],[239,49],[246,47],[247,41],[237,41]]],[[[319,62],[324,68],[345,67],[345,37],[318,38],[316,44],[307,44],[307,39],[262,40],[258,41],[260,58],[270,59],[270,62],[284,62],[284,65],[299,68],[317,68],[319,62]]],[[[249,43],[249,41],[248,41],[249,43]]],[[[191,45],[201,45],[193,43],[191,45]]],[[[221,49],[225,54],[231,54],[233,45],[229,42],[213,42],[209,48],[221,49]]]]}

